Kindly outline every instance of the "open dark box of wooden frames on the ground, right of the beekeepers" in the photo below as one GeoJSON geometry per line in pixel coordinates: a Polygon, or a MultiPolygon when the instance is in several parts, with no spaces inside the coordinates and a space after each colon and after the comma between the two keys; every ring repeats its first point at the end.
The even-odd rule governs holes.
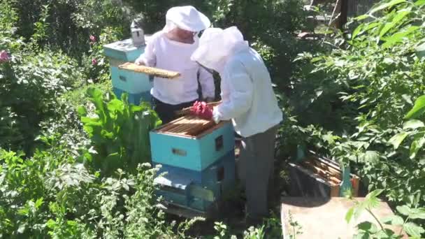
{"type": "MultiPolygon", "coordinates": [[[[329,159],[315,156],[299,164],[289,164],[290,196],[331,198],[343,196],[343,172],[329,159]]],[[[350,174],[353,196],[359,195],[359,177],[350,174]]]]}

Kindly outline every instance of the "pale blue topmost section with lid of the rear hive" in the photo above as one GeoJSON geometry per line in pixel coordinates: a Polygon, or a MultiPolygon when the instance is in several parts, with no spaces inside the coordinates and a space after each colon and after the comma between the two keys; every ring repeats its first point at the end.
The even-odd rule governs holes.
{"type": "Polygon", "coordinates": [[[110,59],[135,61],[145,51],[145,45],[135,47],[131,38],[103,45],[103,53],[110,59]]]}

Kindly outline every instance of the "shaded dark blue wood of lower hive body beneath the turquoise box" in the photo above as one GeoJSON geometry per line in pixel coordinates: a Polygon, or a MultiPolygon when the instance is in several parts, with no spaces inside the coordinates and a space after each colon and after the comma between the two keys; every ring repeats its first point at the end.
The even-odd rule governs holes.
{"type": "MultiPolygon", "coordinates": [[[[236,172],[234,150],[231,150],[231,152],[203,171],[193,171],[186,168],[161,165],[158,174],[161,173],[167,173],[166,175],[178,175],[178,177],[175,178],[188,178],[189,180],[187,181],[192,181],[193,184],[213,191],[217,201],[235,189],[236,172]]],[[[169,203],[194,208],[204,212],[214,203],[196,198],[190,194],[187,195],[187,192],[184,190],[160,189],[156,191],[156,194],[157,196],[162,196],[164,200],[169,203]]]]}

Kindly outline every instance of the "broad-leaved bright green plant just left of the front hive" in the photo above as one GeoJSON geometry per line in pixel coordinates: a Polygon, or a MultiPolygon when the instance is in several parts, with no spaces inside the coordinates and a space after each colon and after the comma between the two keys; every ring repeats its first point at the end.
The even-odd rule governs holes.
{"type": "Polygon", "coordinates": [[[138,164],[150,162],[149,131],[161,124],[157,114],[147,103],[134,106],[127,94],[122,101],[114,94],[103,97],[99,89],[87,89],[96,115],[88,115],[87,108],[78,108],[84,129],[92,140],[93,150],[87,156],[89,164],[110,175],[117,168],[134,172],[138,164]]]}

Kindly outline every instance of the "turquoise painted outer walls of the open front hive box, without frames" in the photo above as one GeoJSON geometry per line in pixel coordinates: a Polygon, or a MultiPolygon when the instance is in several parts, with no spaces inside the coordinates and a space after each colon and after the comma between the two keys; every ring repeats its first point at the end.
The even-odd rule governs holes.
{"type": "Polygon", "coordinates": [[[233,150],[235,141],[233,126],[226,122],[201,138],[185,138],[151,131],[150,144],[154,163],[203,171],[233,150]],[[220,138],[222,147],[217,148],[216,142],[220,138]]]}

